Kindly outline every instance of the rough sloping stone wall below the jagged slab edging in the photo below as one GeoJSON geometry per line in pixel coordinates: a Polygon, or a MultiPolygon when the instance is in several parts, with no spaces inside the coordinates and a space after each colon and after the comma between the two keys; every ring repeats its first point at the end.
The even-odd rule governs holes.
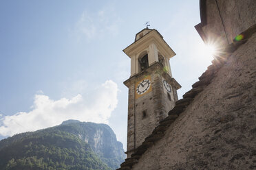
{"type": "Polygon", "coordinates": [[[256,168],[256,34],[132,169],[256,168]]]}

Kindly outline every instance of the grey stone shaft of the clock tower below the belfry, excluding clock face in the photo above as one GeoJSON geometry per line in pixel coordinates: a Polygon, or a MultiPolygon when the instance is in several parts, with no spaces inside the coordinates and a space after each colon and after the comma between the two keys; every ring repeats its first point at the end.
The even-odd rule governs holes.
{"type": "MultiPolygon", "coordinates": [[[[177,101],[169,101],[167,94],[164,93],[162,75],[159,70],[163,70],[162,66],[159,63],[156,63],[150,66],[144,73],[134,76],[132,78],[133,83],[129,85],[127,158],[134,153],[134,147],[139,147],[145,138],[151,134],[158,123],[167,117],[168,111],[175,106],[175,101],[177,101]],[[152,91],[139,97],[138,99],[135,99],[135,84],[136,82],[142,80],[142,78],[146,75],[151,76],[152,91]],[[143,110],[147,110],[147,117],[145,118],[142,117],[143,110]],[[136,134],[135,143],[134,130],[136,134]]],[[[173,89],[175,90],[175,88],[173,89]]],[[[177,93],[171,95],[176,95],[174,99],[177,99],[177,93]]]]}

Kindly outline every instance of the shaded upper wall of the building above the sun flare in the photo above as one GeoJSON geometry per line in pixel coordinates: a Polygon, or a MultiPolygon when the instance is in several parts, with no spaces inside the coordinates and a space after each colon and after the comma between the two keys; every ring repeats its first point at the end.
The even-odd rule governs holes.
{"type": "Polygon", "coordinates": [[[230,44],[235,36],[256,24],[255,0],[205,1],[207,23],[202,27],[202,30],[207,35],[209,42],[217,40],[220,47],[230,44]],[[217,7],[219,7],[220,13],[217,7]]]}

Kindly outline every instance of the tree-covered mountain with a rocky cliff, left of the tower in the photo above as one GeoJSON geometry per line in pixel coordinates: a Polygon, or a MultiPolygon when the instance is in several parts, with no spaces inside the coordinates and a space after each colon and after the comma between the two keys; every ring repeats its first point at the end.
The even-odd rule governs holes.
{"type": "Polygon", "coordinates": [[[75,120],[0,141],[0,169],[116,169],[122,143],[108,125],[75,120]]]}

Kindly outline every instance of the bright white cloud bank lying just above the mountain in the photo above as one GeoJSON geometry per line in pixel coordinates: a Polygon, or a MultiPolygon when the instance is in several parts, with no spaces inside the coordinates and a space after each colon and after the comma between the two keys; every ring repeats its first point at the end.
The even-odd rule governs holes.
{"type": "Polygon", "coordinates": [[[0,134],[13,134],[39,130],[58,125],[67,119],[108,123],[111,112],[118,103],[118,86],[107,80],[104,84],[91,89],[92,95],[81,94],[67,99],[53,100],[47,95],[38,94],[30,112],[17,112],[12,116],[0,117],[0,134]]]}

